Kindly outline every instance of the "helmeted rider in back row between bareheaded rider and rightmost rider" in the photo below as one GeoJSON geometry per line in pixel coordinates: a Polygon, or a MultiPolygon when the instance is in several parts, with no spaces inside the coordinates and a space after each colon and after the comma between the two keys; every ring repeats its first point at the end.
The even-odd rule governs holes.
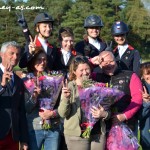
{"type": "Polygon", "coordinates": [[[88,16],[84,21],[84,28],[87,34],[84,36],[84,40],[75,45],[75,50],[88,58],[93,58],[104,51],[107,45],[100,39],[103,26],[103,22],[99,16],[88,16]]]}

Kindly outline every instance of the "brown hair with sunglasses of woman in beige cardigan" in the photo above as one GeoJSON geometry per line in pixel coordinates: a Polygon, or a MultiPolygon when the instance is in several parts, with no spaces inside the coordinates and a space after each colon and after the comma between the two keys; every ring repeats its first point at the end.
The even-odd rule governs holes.
{"type": "Polygon", "coordinates": [[[92,66],[91,66],[89,60],[84,56],[78,55],[72,59],[72,62],[69,67],[69,80],[70,81],[76,79],[76,75],[74,74],[74,71],[77,70],[79,64],[87,64],[87,65],[89,65],[90,69],[92,70],[92,66]]]}

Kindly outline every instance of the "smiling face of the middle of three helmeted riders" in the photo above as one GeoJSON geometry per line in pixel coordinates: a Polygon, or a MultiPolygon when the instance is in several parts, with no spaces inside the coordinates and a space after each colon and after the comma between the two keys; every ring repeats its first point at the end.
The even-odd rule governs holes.
{"type": "Polygon", "coordinates": [[[100,27],[87,28],[87,34],[88,34],[88,36],[90,36],[93,39],[97,38],[100,34],[100,27]]]}

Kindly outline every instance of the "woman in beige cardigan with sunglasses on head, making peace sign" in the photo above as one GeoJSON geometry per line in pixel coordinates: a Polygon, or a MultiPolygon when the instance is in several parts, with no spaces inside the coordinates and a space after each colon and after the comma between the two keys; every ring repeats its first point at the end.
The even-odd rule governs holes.
{"type": "Polygon", "coordinates": [[[105,147],[104,120],[109,118],[110,113],[104,111],[102,107],[91,109],[92,116],[99,121],[94,125],[90,139],[81,137],[83,113],[78,89],[82,86],[83,77],[89,77],[90,74],[91,68],[88,60],[83,56],[76,56],[70,65],[70,82],[66,82],[62,88],[58,113],[65,118],[64,135],[68,150],[99,150],[105,147]]]}

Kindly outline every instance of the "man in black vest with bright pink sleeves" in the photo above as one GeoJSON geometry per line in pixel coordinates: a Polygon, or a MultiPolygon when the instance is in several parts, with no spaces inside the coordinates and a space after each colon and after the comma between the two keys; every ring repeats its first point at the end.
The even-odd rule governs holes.
{"type": "Polygon", "coordinates": [[[136,73],[119,69],[114,55],[110,51],[101,52],[99,58],[102,73],[97,73],[96,80],[108,83],[125,93],[113,107],[116,110],[113,122],[125,122],[137,134],[135,114],[142,105],[141,80],[136,73]]]}

